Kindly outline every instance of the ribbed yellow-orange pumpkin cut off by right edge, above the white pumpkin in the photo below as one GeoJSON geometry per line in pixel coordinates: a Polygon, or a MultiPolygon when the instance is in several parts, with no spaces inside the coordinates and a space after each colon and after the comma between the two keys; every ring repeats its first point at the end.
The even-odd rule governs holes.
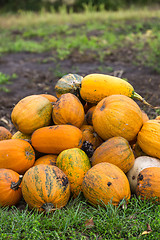
{"type": "Polygon", "coordinates": [[[138,133],[137,143],[143,152],[160,158],[160,120],[149,120],[138,133]]]}

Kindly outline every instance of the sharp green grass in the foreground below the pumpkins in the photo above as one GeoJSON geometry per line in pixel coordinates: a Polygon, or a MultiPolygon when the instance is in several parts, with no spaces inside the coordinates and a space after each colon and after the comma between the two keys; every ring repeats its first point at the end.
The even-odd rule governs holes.
{"type": "Polygon", "coordinates": [[[0,239],[159,239],[160,206],[136,197],[128,207],[94,208],[80,196],[53,213],[0,209],[0,239]],[[87,226],[86,222],[92,220],[87,226]],[[148,234],[147,225],[151,227],[148,234]]]}

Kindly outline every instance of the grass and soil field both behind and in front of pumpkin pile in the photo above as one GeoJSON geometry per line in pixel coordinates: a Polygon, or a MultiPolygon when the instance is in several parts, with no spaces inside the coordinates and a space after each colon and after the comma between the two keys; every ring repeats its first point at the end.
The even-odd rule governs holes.
{"type": "MultiPolygon", "coordinates": [[[[35,12],[4,4],[0,125],[14,132],[14,105],[31,94],[55,95],[57,80],[68,73],[120,76],[149,103],[160,106],[160,7],[148,3],[123,8],[117,4],[118,9],[100,4],[98,11],[88,3],[77,12],[67,5],[35,12]]],[[[150,118],[160,114],[137,103],[150,118]]],[[[159,219],[158,204],[135,196],[126,209],[95,209],[79,196],[46,215],[30,211],[22,200],[16,207],[0,209],[0,239],[159,239],[159,219]]]]}

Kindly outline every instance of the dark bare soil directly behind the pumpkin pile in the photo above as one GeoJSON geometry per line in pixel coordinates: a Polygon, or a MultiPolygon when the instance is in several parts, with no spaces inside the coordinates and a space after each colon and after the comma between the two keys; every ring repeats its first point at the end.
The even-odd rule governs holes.
{"type": "MultiPolygon", "coordinates": [[[[17,74],[10,84],[3,85],[9,92],[0,91],[0,125],[13,130],[11,112],[14,105],[25,96],[48,93],[55,95],[54,86],[58,79],[68,73],[85,76],[89,73],[105,73],[126,78],[135,91],[150,104],[160,106],[160,74],[140,63],[136,65],[135,54],[130,49],[119,49],[106,57],[103,62],[95,53],[79,54],[74,51],[65,60],[53,60],[53,52],[12,53],[0,57],[0,72],[17,74]],[[45,61],[44,61],[45,60],[45,61]],[[111,71],[112,70],[112,71],[111,71]],[[64,74],[63,74],[64,73],[64,74]]],[[[154,109],[137,102],[150,118],[158,113],[154,109]]]]}

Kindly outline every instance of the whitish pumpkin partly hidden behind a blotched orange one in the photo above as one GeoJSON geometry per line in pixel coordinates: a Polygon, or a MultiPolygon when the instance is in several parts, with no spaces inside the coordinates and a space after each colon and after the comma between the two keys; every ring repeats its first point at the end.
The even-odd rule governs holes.
{"type": "Polygon", "coordinates": [[[160,167],[160,160],[157,158],[149,157],[149,156],[141,156],[135,159],[134,165],[127,172],[127,178],[129,180],[132,193],[136,193],[138,174],[144,168],[148,168],[148,167],[160,167]]]}

